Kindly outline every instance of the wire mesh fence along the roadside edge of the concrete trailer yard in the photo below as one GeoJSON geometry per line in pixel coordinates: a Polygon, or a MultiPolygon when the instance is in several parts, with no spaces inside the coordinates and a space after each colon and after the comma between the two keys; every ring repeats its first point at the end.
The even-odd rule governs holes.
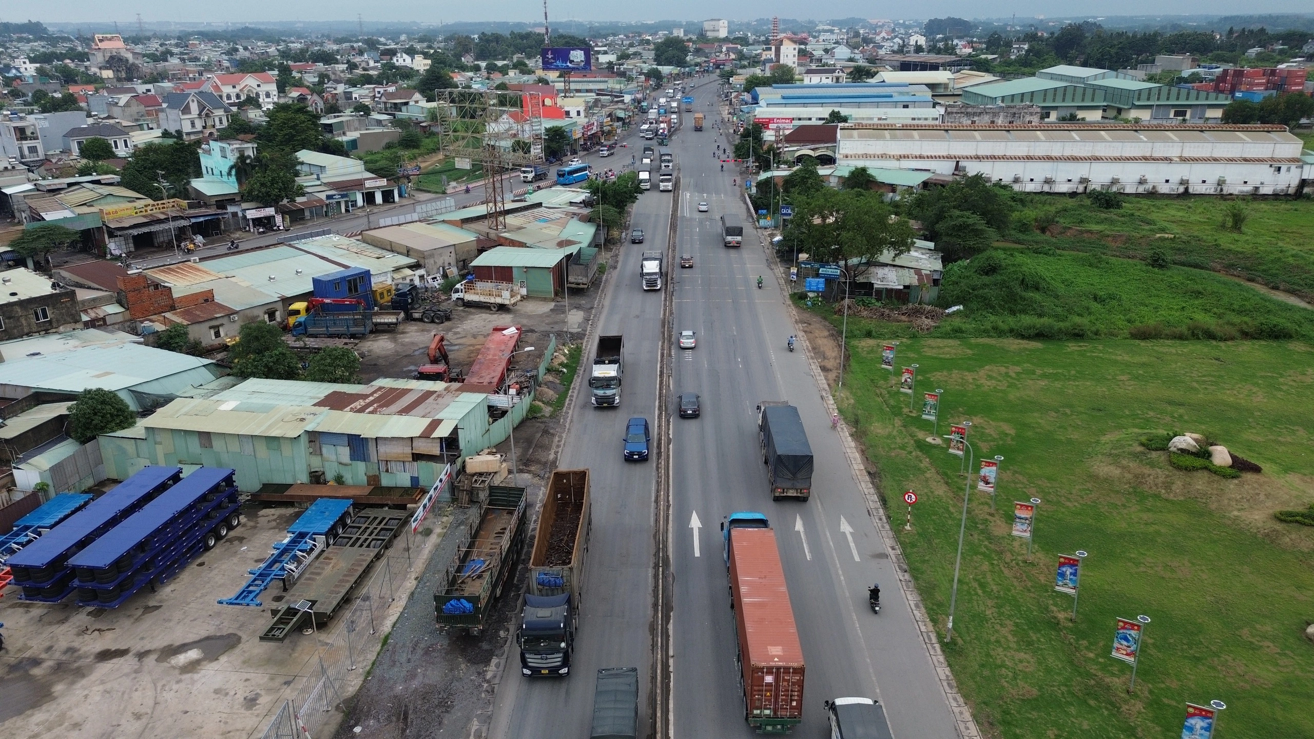
{"type": "MultiPolygon", "coordinates": [[[[348,682],[353,677],[357,685],[364,680],[364,669],[369,668],[388,632],[389,608],[394,602],[403,604],[409,596],[401,590],[407,581],[414,583],[406,572],[424,565],[422,556],[413,559],[414,539],[409,522],[399,531],[397,543],[385,550],[376,564],[369,584],[357,590],[352,609],[335,615],[322,634],[314,632],[314,639],[326,642],[321,642],[305,672],[293,679],[290,693],[284,696],[283,705],[264,731],[252,734],[252,739],[321,736],[326,726],[346,713],[343,700],[355,689],[348,682]]],[[[435,533],[430,542],[436,544],[439,539],[442,533],[435,533]]]]}

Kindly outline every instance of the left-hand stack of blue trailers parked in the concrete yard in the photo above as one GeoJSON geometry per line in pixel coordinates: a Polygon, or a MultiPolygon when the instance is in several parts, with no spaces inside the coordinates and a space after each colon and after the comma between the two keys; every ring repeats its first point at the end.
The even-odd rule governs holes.
{"type": "Polygon", "coordinates": [[[70,558],[183,477],[181,467],[145,467],[9,558],[18,600],[58,604],[74,590],[70,558]]]}

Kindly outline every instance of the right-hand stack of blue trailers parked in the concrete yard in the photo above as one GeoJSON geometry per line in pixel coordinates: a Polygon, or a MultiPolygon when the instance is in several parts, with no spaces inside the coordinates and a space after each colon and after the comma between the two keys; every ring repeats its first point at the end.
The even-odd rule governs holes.
{"type": "Polygon", "coordinates": [[[78,605],[116,608],[227,536],[239,522],[235,475],[201,467],[74,555],[78,605]]]}

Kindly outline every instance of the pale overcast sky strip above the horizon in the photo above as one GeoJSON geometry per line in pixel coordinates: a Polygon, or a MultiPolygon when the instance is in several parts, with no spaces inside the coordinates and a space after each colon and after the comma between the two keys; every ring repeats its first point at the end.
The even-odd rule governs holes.
{"type": "MultiPolygon", "coordinates": [[[[762,18],[773,14],[791,18],[804,18],[809,13],[824,12],[825,18],[865,17],[865,18],[933,18],[958,16],[964,18],[1018,17],[1045,14],[1049,17],[1070,17],[1091,13],[1097,8],[1100,16],[1142,14],[1146,12],[1164,14],[1261,14],[1261,13],[1309,13],[1309,0],[1255,0],[1236,3],[1235,0],[1159,0],[1147,5],[1143,0],[926,0],[915,8],[901,3],[871,3],[870,0],[832,0],[824,5],[783,0],[716,0],[712,3],[696,0],[611,0],[607,3],[585,0],[549,0],[551,18],[574,18],[585,21],[654,21],[662,18],[706,17],[762,18]],[[824,9],[824,11],[823,11],[824,9]],[[903,16],[915,11],[916,16],[903,16]]],[[[214,3],[179,3],[176,0],[54,0],[53,3],[25,4],[21,11],[4,13],[4,21],[118,21],[121,26],[137,22],[137,13],[147,22],[233,22],[240,25],[259,21],[294,21],[297,9],[310,12],[315,20],[356,20],[363,13],[373,21],[526,21],[543,18],[543,3],[537,0],[498,0],[495,9],[486,3],[434,3],[431,0],[318,0],[313,5],[269,3],[267,0],[223,0],[214,3]],[[112,8],[112,11],[110,11],[112,8]],[[311,11],[313,8],[313,11],[311,11]]],[[[122,30],[122,29],[121,29],[122,30]]]]}

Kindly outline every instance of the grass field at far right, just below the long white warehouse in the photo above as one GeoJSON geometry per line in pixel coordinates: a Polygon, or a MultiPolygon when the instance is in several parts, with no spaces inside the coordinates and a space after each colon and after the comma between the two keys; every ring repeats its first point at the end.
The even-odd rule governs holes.
{"type": "Polygon", "coordinates": [[[1031,195],[1014,216],[1020,241],[1056,249],[1144,259],[1164,250],[1173,263],[1227,272],[1314,298],[1314,200],[1247,201],[1250,220],[1239,233],[1222,227],[1217,197],[1127,197],[1102,210],[1085,197],[1031,195]],[[1053,222],[1056,235],[1030,230],[1053,222]]]}

